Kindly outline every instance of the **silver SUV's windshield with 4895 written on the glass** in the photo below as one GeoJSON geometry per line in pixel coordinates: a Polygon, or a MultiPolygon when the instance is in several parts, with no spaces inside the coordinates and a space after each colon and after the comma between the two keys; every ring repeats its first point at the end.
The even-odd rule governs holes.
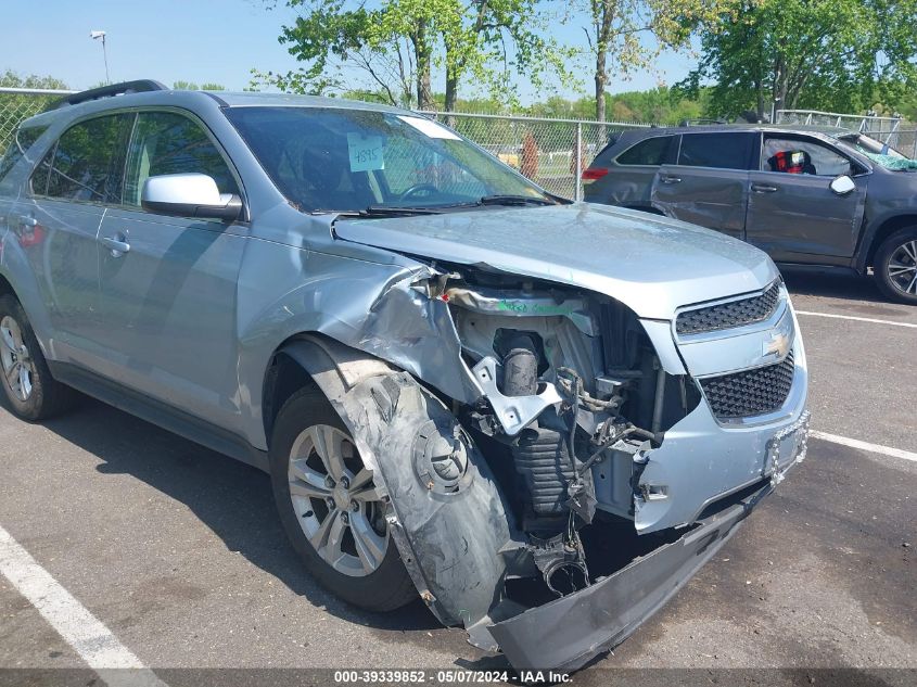
{"type": "Polygon", "coordinates": [[[227,116],[304,212],[550,202],[533,183],[435,122],[324,107],[235,107],[227,116]]]}

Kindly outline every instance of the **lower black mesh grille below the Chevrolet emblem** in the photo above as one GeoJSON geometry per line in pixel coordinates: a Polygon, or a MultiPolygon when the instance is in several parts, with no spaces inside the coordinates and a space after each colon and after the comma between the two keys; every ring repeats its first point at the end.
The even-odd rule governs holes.
{"type": "Polygon", "coordinates": [[[776,365],[699,381],[718,419],[751,418],[782,407],[793,384],[794,369],[790,353],[776,365]]]}

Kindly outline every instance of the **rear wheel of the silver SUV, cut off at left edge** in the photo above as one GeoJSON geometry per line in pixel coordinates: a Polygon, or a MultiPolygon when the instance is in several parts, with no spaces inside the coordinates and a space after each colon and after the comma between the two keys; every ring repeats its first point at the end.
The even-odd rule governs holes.
{"type": "Polygon", "coordinates": [[[71,407],[75,392],[51,377],[28,317],[11,294],[0,296],[0,385],[23,420],[47,420],[71,407]]]}

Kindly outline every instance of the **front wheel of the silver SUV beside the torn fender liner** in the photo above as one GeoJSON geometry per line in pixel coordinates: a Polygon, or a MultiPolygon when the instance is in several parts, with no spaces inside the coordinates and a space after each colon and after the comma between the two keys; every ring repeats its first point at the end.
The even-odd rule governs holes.
{"type": "Polygon", "coordinates": [[[321,392],[306,387],[283,405],[269,458],[283,529],[322,586],[369,611],[395,610],[417,597],[372,472],[321,392]]]}

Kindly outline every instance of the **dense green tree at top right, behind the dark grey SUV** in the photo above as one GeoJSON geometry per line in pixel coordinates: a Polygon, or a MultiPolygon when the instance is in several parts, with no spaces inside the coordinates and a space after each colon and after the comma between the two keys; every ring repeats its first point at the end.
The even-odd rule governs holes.
{"type": "Polygon", "coordinates": [[[891,106],[915,80],[917,0],[754,0],[702,37],[679,85],[713,81],[709,113],[760,118],[777,107],[855,112],[891,106]]]}

